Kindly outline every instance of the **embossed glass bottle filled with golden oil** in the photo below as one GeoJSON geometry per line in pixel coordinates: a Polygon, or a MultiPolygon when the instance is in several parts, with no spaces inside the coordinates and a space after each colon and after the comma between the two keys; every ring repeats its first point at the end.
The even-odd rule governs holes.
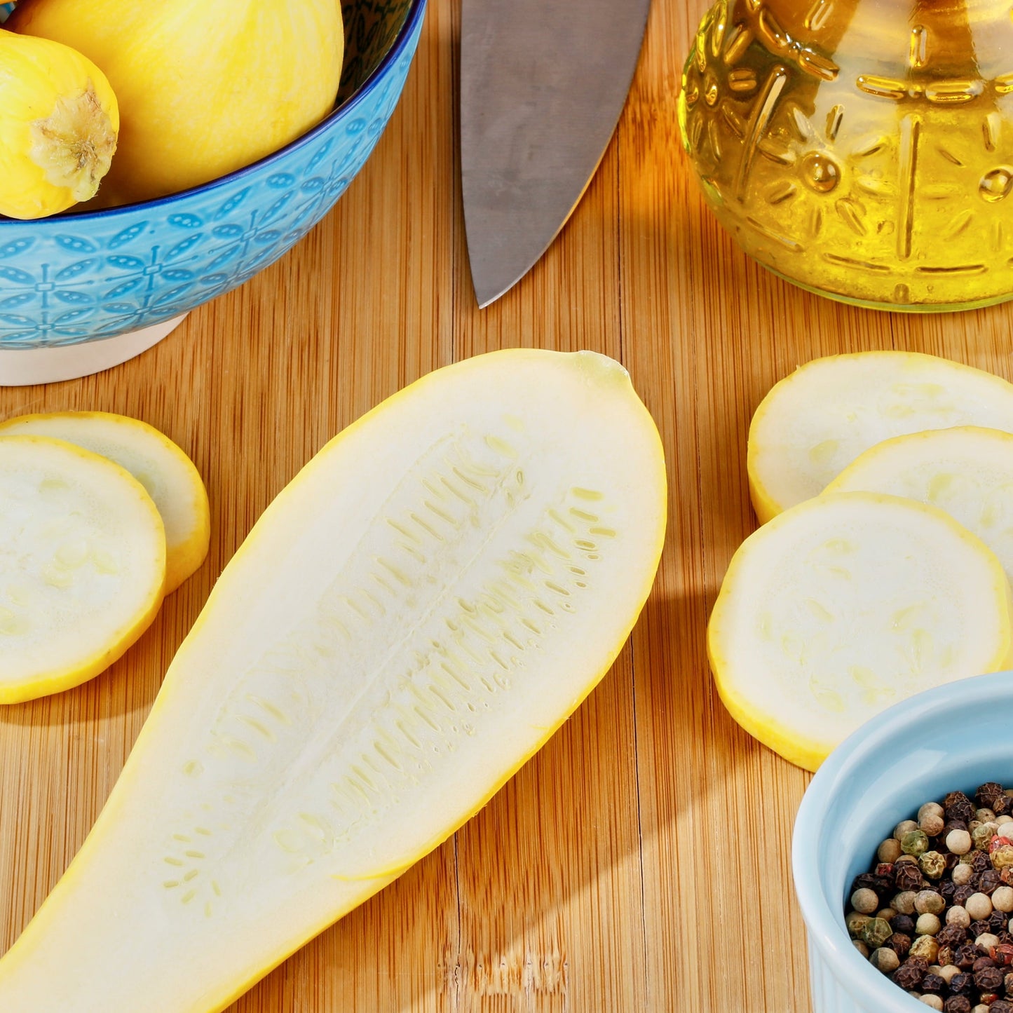
{"type": "Polygon", "coordinates": [[[719,0],[679,122],[743,248],[882,309],[1013,296],[1013,16],[995,0],[719,0]]]}

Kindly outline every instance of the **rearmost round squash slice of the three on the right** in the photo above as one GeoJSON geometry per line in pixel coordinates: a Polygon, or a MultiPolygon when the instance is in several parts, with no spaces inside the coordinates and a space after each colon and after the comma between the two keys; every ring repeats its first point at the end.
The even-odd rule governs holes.
{"type": "Polygon", "coordinates": [[[889,437],[951,425],[1013,433],[1013,384],[914,352],[815,359],[776,383],[750,424],[750,495],[761,524],[821,492],[889,437]]]}

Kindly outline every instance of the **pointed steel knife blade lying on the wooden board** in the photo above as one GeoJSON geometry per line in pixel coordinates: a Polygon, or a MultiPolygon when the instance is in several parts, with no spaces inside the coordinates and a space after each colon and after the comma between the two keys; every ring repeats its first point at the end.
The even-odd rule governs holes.
{"type": "Polygon", "coordinates": [[[463,0],[461,191],[480,307],[541,257],[622,111],[650,0],[463,0]]]}

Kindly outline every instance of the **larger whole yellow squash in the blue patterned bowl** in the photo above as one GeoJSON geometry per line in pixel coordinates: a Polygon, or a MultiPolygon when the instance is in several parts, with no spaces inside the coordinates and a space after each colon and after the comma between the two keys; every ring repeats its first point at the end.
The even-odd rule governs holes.
{"type": "Polygon", "coordinates": [[[198,186],[305,133],[331,109],[340,0],[22,0],[15,31],[79,50],[120,102],[100,203],[198,186]]]}

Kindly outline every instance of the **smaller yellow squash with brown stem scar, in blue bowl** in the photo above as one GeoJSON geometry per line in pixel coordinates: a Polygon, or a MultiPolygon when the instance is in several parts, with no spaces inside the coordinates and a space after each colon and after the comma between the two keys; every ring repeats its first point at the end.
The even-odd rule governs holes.
{"type": "Polygon", "coordinates": [[[120,112],[105,75],[60,43],[0,28],[0,215],[55,215],[95,194],[120,112]]]}

